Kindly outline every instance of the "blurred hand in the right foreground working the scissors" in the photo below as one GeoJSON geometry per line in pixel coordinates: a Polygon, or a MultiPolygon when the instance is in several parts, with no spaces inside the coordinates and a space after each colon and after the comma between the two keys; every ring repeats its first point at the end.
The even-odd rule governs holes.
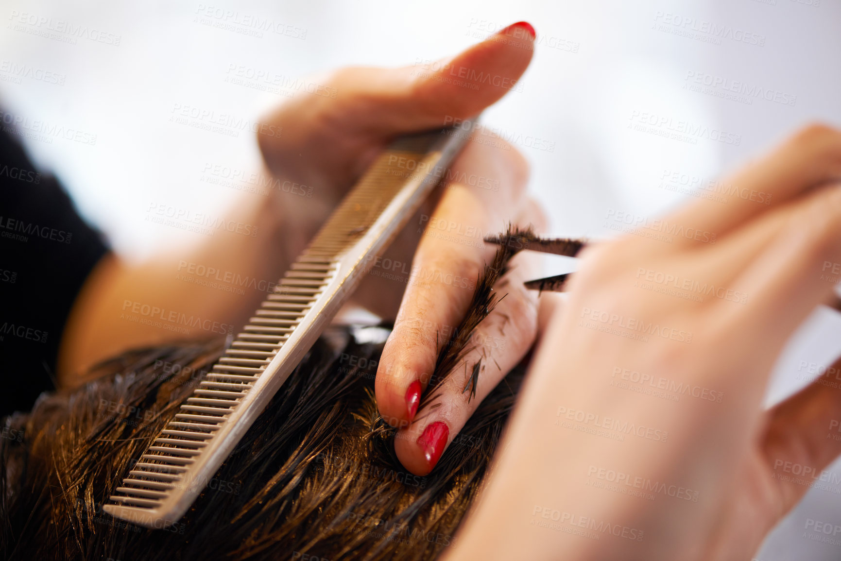
{"type": "Polygon", "coordinates": [[[832,384],[763,408],[785,341],[833,296],[839,179],[841,133],[813,126],[727,203],[585,251],[458,552],[750,558],[841,453],[832,384]]]}

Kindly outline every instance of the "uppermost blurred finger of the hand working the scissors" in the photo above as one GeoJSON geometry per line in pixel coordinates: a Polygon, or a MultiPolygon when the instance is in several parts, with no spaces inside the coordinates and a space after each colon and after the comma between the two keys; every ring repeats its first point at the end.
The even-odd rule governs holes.
{"type": "MultiPolygon", "coordinates": [[[[658,223],[658,228],[694,228],[718,239],[756,215],[785,204],[809,188],[841,178],[841,132],[812,125],[717,184],[727,204],[700,199],[658,223]],[[663,226],[665,224],[666,226],[663,226]]],[[[681,246],[700,242],[675,236],[681,246]]]]}

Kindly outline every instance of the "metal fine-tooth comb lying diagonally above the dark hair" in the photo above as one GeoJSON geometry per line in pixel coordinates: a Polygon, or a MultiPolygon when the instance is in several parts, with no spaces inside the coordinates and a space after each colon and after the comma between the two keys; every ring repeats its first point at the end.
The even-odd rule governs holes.
{"type": "Polygon", "coordinates": [[[404,136],[373,161],[104,511],[152,528],[181,518],[467,137],[454,129],[404,136]]]}

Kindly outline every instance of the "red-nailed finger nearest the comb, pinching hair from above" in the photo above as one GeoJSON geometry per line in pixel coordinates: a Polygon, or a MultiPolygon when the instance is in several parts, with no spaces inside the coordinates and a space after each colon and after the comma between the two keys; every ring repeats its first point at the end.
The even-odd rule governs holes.
{"type": "MultiPolygon", "coordinates": [[[[507,145],[505,145],[507,146],[507,145]]],[[[383,348],[376,394],[381,415],[405,426],[415,415],[421,391],[435,368],[438,339],[452,332],[468,309],[476,279],[494,255],[486,233],[513,223],[525,204],[527,167],[514,151],[469,143],[452,170],[493,177],[497,192],[449,183],[436,211],[421,227],[410,280],[389,341],[383,348]]]]}

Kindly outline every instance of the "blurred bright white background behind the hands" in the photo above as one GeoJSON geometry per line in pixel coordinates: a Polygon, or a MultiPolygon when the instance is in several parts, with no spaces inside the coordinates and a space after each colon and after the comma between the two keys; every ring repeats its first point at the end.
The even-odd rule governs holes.
{"type": "MultiPolygon", "coordinates": [[[[132,259],[198,236],[147,220],[153,205],[224,215],[262,196],[238,179],[262,173],[247,126],[307,75],[434,61],[523,19],[537,29],[532,66],[483,119],[531,162],[555,235],[615,235],[619,213],[651,219],[710,196],[710,181],[802,124],[841,125],[837,0],[7,0],[0,18],[3,125],[18,119],[42,171],[132,259]],[[184,108],[230,124],[207,130],[177,119],[184,108]],[[694,132],[669,138],[679,126],[694,132]]],[[[807,320],[769,404],[833,362],[839,332],[830,310],[807,320]]],[[[756,558],[841,558],[841,535],[818,542],[806,526],[841,525],[841,463],[826,478],[756,558]]]]}

